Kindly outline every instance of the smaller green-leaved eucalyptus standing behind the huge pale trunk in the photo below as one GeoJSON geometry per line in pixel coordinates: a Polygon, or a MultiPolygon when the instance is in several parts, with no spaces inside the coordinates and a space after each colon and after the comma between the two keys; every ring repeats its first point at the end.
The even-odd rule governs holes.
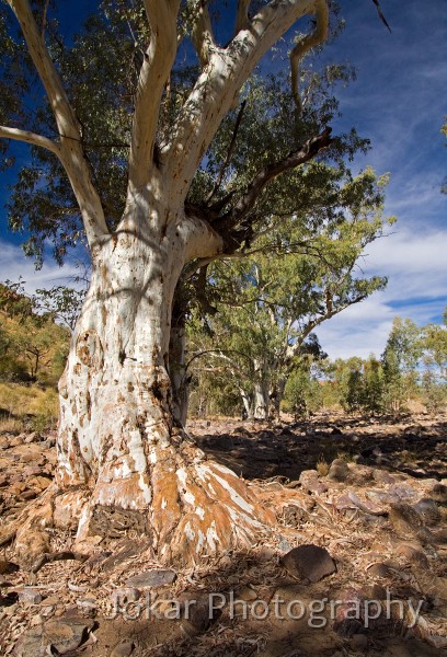
{"type": "MultiPolygon", "coordinates": [[[[295,175],[295,189],[301,176],[295,175]]],[[[363,277],[359,267],[366,246],[382,233],[387,177],[370,169],[351,177],[321,162],[309,165],[306,176],[318,201],[279,221],[290,200],[283,195],[271,215],[273,228],[251,254],[213,266],[207,299],[217,302],[207,331],[195,332],[193,362],[203,353],[208,368],[226,368],[248,416],[259,419],[279,414],[287,379],[312,332],[387,283],[363,277]]]]}

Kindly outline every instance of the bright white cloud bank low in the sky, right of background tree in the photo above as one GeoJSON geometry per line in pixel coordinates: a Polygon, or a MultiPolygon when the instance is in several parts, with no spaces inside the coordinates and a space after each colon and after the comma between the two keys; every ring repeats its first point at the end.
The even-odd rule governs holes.
{"type": "Polygon", "coordinates": [[[318,331],[330,358],[379,356],[394,316],[423,325],[438,321],[447,304],[447,229],[410,229],[377,240],[363,262],[366,275],[389,276],[388,287],[325,322],[318,331]]]}

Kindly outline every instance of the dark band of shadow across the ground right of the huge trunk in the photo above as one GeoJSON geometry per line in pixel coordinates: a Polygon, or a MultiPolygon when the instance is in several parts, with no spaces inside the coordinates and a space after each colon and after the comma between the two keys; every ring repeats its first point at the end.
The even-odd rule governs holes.
{"type": "Polygon", "coordinates": [[[294,481],[303,470],[337,457],[420,479],[447,476],[446,422],[424,426],[411,419],[319,418],[274,427],[233,423],[230,433],[217,427],[205,435],[195,434],[193,426],[191,433],[205,453],[247,480],[294,481]]]}

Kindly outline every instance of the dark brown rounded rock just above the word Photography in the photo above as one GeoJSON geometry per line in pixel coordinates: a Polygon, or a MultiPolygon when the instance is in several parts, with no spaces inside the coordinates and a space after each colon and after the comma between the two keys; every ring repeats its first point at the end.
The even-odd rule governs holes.
{"type": "Polygon", "coordinates": [[[299,545],[282,557],[287,572],[311,583],[335,573],[336,566],[328,550],[319,545],[299,545]]]}

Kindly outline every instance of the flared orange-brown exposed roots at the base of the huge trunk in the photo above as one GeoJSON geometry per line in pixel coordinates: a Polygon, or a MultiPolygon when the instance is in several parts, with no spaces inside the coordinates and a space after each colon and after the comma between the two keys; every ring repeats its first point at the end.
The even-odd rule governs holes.
{"type": "Polygon", "coordinates": [[[153,443],[148,460],[148,473],[105,475],[93,491],[61,491],[53,484],[4,528],[0,543],[15,538],[19,560],[35,572],[53,556],[58,558],[51,556],[48,528],[77,531],[80,552],[98,542],[93,537],[116,539],[131,531],[150,538],[161,562],[185,565],[250,548],[275,523],[274,512],[242,479],[206,460],[197,447],[186,441],[153,443]]]}

